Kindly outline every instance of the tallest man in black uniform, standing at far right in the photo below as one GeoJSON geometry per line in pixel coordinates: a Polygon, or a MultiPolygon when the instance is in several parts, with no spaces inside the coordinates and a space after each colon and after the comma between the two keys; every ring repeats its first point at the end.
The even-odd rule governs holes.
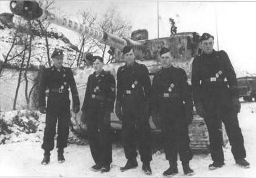
{"type": "Polygon", "coordinates": [[[221,121],[224,122],[236,163],[249,168],[250,164],[245,160],[243,136],[237,118],[241,105],[238,100],[236,73],[227,53],[213,49],[213,40],[210,34],[202,35],[203,52],[195,57],[192,64],[193,100],[196,112],[204,118],[209,132],[213,160],[209,169],[224,165],[221,121]]]}

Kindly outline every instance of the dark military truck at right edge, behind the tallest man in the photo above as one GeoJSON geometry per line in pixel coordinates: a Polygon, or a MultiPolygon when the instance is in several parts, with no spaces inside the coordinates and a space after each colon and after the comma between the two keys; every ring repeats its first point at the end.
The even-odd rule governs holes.
{"type": "Polygon", "coordinates": [[[240,77],[237,78],[239,96],[244,101],[254,101],[256,99],[256,77],[240,77]]]}

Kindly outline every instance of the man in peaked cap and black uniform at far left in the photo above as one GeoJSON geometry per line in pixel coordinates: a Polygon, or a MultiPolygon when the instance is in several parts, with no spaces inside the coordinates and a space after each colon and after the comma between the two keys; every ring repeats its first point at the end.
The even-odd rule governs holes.
{"type": "Polygon", "coordinates": [[[40,113],[46,113],[46,127],[44,129],[42,144],[42,148],[44,149],[42,164],[44,165],[48,164],[50,161],[50,151],[53,150],[54,147],[57,120],[58,161],[60,163],[65,161],[63,150],[67,147],[70,124],[69,86],[73,97],[73,111],[78,113],[80,110],[79,95],[71,68],[62,66],[63,50],[55,49],[51,58],[53,60],[53,66],[43,71],[39,92],[39,110],[40,113]],[[46,107],[47,88],[49,89],[49,97],[46,107]]]}

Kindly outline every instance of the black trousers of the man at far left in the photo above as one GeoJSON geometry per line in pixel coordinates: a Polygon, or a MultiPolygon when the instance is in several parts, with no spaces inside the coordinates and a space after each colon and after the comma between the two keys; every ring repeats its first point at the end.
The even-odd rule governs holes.
{"type": "Polygon", "coordinates": [[[46,127],[44,129],[44,138],[42,148],[51,151],[54,148],[54,137],[57,124],[57,148],[67,147],[70,119],[70,101],[48,100],[46,111],[46,127]]]}

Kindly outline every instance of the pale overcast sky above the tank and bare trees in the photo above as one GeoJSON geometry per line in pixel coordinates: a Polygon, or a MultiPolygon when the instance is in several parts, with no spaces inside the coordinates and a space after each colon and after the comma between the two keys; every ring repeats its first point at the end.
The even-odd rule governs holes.
{"type": "MultiPolygon", "coordinates": [[[[133,30],[146,28],[150,39],[158,37],[156,1],[56,1],[55,6],[73,19],[80,10],[101,14],[116,7],[123,18],[130,20],[133,30]]],[[[1,1],[0,13],[8,11],[9,1],[1,1]]],[[[159,1],[159,37],[170,36],[170,17],[175,19],[178,32],[209,32],[215,38],[217,20],[219,49],[228,52],[236,71],[256,73],[256,2],[159,1]]],[[[71,40],[76,39],[76,33],[61,30],[71,40]]]]}

